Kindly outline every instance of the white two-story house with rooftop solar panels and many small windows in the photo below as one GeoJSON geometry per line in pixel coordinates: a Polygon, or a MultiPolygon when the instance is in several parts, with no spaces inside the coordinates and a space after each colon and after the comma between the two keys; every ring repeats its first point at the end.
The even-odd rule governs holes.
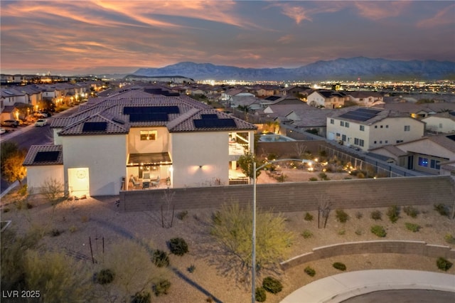
{"type": "Polygon", "coordinates": [[[327,117],[327,139],[364,151],[423,136],[423,122],[390,110],[346,107],[327,117]]]}

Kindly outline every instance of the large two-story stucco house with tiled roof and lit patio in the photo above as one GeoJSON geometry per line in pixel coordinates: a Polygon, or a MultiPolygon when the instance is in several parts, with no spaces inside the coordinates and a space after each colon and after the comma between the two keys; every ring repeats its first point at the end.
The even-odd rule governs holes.
{"type": "Polygon", "coordinates": [[[90,99],[50,127],[54,145],[31,147],[24,161],[28,189],[55,179],[72,196],[117,195],[134,186],[130,176],[143,186],[150,176],[171,187],[228,185],[257,129],[189,97],[141,90],[90,99]]]}

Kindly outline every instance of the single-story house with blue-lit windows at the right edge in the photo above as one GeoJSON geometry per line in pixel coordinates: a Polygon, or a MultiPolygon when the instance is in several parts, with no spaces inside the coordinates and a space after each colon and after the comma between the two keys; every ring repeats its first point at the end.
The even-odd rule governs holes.
{"type": "Polygon", "coordinates": [[[374,154],[389,157],[390,162],[428,174],[449,174],[455,161],[455,134],[422,137],[393,146],[371,149],[374,154]],[[443,166],[444,167],[441,167],[443,166]]]}

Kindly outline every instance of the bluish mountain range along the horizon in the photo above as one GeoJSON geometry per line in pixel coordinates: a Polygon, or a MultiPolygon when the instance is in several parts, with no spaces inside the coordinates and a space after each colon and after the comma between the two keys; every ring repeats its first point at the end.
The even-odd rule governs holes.
{"type": "Polygon", "coordinates": [[[181,62],[164,68],[139,68],[134,75],[181,75],[193,80],[455,80],[455,62],[338,58],[299,68],[237,68],[211,63],[181,62]]]}

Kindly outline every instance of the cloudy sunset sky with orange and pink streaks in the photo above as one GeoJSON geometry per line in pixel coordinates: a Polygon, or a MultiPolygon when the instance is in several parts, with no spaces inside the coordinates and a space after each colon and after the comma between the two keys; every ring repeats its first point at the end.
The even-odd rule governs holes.
{"type": "Polygon", "coordinates": [[[454,1],[1,0],[1,73],[455,61],[454,1]]]}

